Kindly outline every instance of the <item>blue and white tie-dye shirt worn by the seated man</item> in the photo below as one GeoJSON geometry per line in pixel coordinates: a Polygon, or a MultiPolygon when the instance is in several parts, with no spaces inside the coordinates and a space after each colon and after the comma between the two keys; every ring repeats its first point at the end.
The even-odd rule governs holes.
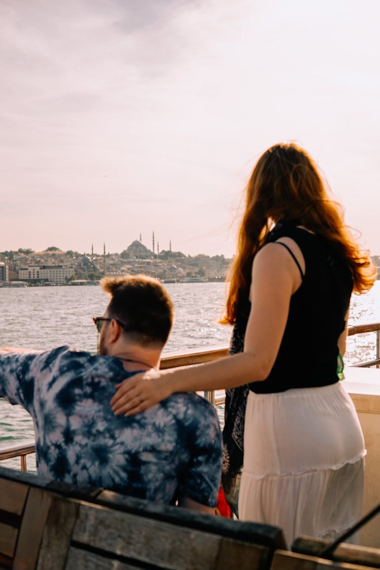
{"type": "Polygon", "coordinates": [[[196,394],[173,394],[136,416],[115,416],[121,360],[71,351],[0,352],[0,396],[34,420],[39,475],[173,504],[215,506],[222,445],[218,417],[196,394]]]}

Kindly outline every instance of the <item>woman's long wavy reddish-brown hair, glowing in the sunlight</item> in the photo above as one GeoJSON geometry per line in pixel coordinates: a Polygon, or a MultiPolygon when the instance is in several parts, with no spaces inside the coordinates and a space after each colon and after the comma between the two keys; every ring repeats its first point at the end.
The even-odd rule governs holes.
{"type": "Polygon", "coordinates": [[[246,207],[222,323],[235,323],[240,294],[250,286],[252,260],[273,223],[280,219],[296,221],[328,239],[337,255],[347,260],[355,292],[364,293],[373,285],[375,268],[369,253],[352,237],[342,207],[328,196],[312,158],[296,144],[276,144],[259,158],[246,188],[246,207]]]}

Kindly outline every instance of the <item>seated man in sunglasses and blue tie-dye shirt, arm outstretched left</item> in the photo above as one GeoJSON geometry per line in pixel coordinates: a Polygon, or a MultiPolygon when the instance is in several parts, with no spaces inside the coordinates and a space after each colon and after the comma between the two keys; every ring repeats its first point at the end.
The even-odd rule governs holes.
{"type": "Polygon", "coordinates": [[[39,475],[213,512],[221,439],[213,406],[174,394],[137,416],[113,414],[115,386],[158,368],[173,323],[164,287],[144,275],[104,278],[99,355],[68,347],[0,349],[0,396],[32,416],[39,475]]]}

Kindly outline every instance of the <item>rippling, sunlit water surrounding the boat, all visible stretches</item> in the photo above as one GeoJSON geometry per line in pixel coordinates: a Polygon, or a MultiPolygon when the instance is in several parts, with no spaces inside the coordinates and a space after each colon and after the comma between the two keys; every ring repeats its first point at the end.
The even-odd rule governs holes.
{"type": "MultiPolygon", "coordinates": [[[[231,327],[217,321],[222,313],[224,283],[167,283],[175,306],[175,323],[165,352],[227,345],[231,327]]],[[[50,349],[68,344],[96,352],[93,316],[103,315],[108,296],[94,286],[0,288],[0,346],[50,349]]],[[[367,295],[352,298],[349,324],[380,321],[380,281],[367,295]]],[[[375,334],[349,337],[346,364],[375,357],[375,334]]],[[[34,438],[30,416],[20,406],[0,400],[0,446],[34,438]]],[[[19,459],[1,462],[19,469],[19,459]]],[[[34,456],[27,460],[35,470],[34,456]]]]}

